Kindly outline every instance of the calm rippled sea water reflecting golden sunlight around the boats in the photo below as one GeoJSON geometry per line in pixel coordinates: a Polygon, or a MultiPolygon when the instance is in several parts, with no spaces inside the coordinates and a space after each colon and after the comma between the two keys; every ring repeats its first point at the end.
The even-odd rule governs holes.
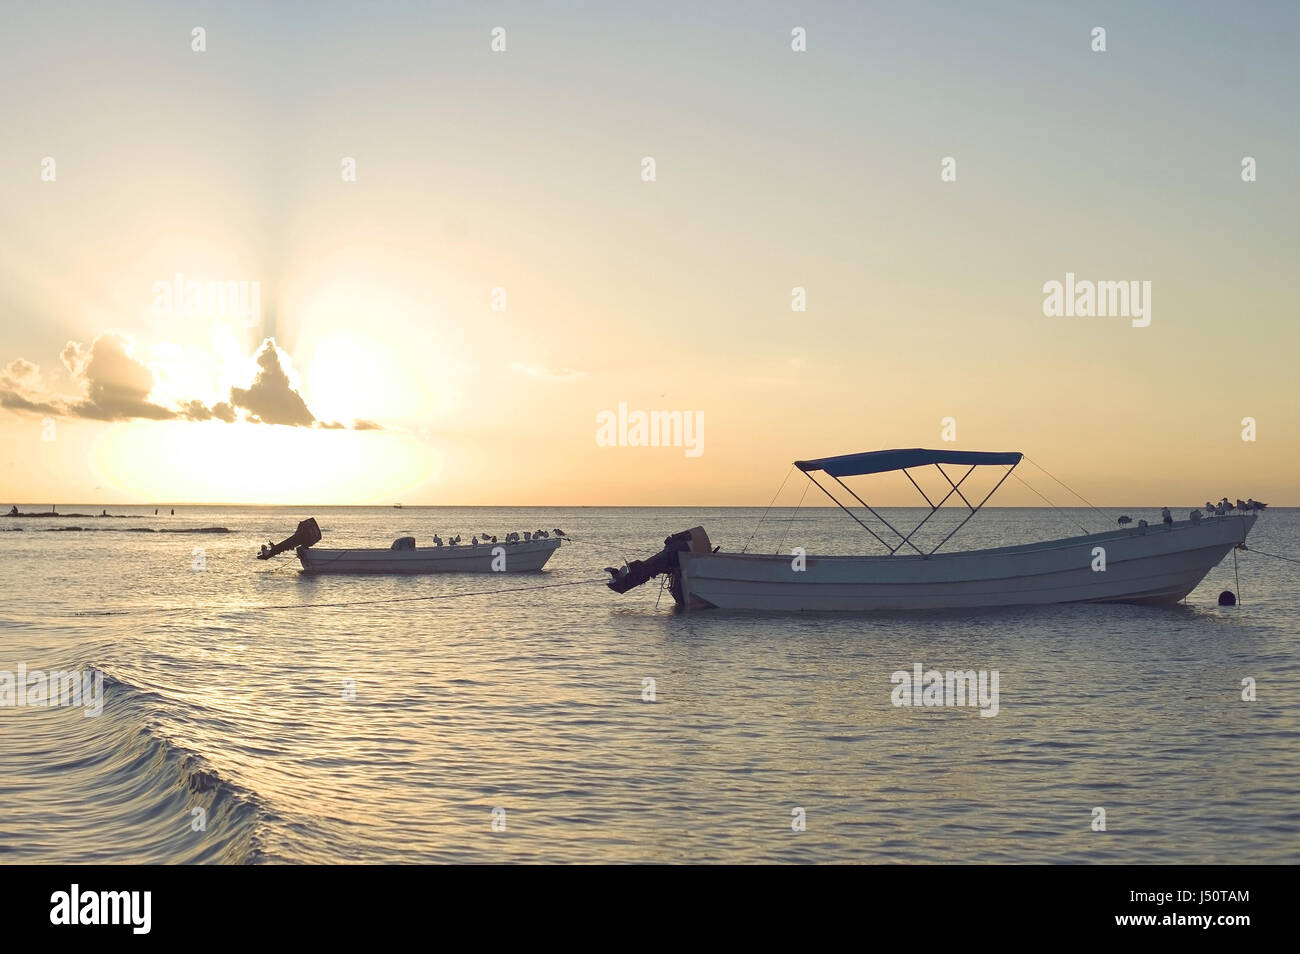
{"type": "MultiPolygon", "coordinates": [[[[1238,586],[1228,556],[1167,608],[681,615],[658,585],[582,581],[697,524],[738,550],[762,509],[109,509],[135,516],[0,520],[0,671],[105,673],[99,717],[0,708],[0,860],[1300,860],[1296,564],[1242,554],[1238,586]],[[576,542],[511,577],[254,559],[312,515],[325,546],[576,542]],[[69,525],[94,529],[47,532],[69,525]],[[124,532],[203,526],[231,533],[124,532]],[[439,599],[312,606],[410,597],[439,599]],[[892,706],[915,663],[997,669],[997,716],[892,706]]],[[[1121,512],[1156,520],[988,509],[957,539],[1121,512]]],[[[750,548],[862,537],[838,511],[774,511],[750,548]]],[[[1300,556],[1300,511],[1264,513],[1249,545],[1300,556]]]]}

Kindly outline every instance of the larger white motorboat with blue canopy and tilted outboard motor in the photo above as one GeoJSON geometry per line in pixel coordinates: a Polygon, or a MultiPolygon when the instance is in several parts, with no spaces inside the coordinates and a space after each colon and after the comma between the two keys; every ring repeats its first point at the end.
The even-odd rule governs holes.
{"type": "Polygon", "coordinates": [[[959,610],[1048,603],[1175,603],[1234,547],[1245,542],[1254,513],[1209,516],[1130,526],[1022,546],[939,552],[980,511],[1020,463],[1019,452],[935,451],[924,448],[871,451],[794,463],[884,547],[879,556],[814,556],[792,560],[781,554],[728,554],[711,548],[703,528],[673,534],[649,560],[607,568],[610,589],[627,593],[662,574],[684,608],[762,612],[871,612],[894,610],[959,610]],[[967,467],[953,481],[944,465],[967,467]],[[935,465],[950,490],[936,503],[909,472],[935,465]],[[962,483],[982,465],[1006,472],[976,504],[962,483]],[[901,471],[930,504],[930,513],[904,533],[896,529],[842,481],[845,477],[901,471]],[[874,529],[831,494],[820,481],[833,480],[864,512],[874,529]],[[918,546],[920,530],[953,495],[968,508],[965,519],[933,547],[918,546]],[[1097,556],[1102,559],[1098,561],[1097,556]],[[1098,569],[1098,565],[1102,567],[1098,569]]]}

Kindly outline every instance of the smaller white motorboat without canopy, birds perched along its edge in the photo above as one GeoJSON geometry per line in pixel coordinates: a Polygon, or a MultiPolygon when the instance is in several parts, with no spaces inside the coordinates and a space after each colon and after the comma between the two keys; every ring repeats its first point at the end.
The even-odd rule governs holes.
{"type": "Polygon", "coordinates": [[[292,537],[265,545],[259,560],[294,550],[307,573],[530,573],[560,548],[560,539],[540,538],[508,543],[417,547],[415,537],[399,537],[386,548],[315,548],[321,539],[315,517],[298,525],[292,537]]]}

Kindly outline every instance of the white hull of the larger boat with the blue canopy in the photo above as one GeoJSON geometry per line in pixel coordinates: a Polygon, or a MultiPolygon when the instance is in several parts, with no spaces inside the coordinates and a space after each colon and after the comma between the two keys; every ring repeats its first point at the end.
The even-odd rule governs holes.
{"type": "Polygon", "coordinates": [[[760,612],[1175,603],[1239,543],[1254,515],[1176,521],[1018,547],[922,556],[681,552],[686,607],[760,612]],[[1105,551],[1105,569],[1097,548],[1105,551]]]}

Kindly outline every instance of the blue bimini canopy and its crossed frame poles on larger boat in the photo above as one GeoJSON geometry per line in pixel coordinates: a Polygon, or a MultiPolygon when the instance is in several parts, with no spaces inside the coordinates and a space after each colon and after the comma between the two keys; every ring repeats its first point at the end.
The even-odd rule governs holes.
{"type": "Polygon", "coordinates": [[[952,539],[953,534],[956,534],[957,530],[966,526],[970,519],[974,517],[985,503],[988,503],[989,498],[993,496],[993,494],[997,493],[997,489],[1001,487],[1002,483],[1006,481],[1006,478],[1011,476],[1011,471],[1015,469],[1015,465],[1020,463],[1022,458],[1023,455],[1019,451],[1006,451],[1006,452],[932,451],[932,450],[926,450],[923,447],[911,447],[907,450],[868,451],[866,454],[845,454],[837,458],[819,458],[816,460],[796,460],[794,467],[800,468],[800,471],[802,471],[803,474],[810,481],[812,481],[812,483],[816,485],[818,490],[829,496],[840,509],[842,509],[845,513],[853,517],[858,522],[858,525],[861,525],[867,533],[875,537],[880,542],[880,545],[889,551],[890,555],[897,554],[900,550],[902,550],[904,546],[910,546],[913,550],[920,554],[922,558],[927,558],[932,556],[939,550],[939,547],[941,547],[944,543],[952,539]],[[930,499],[926,491],[920,489],[920,485],[916,483],[916,481],[913,478],[910,473],[907,473],[907,468],[923,467],[926,464],[933,464],[935,468],[939,471],[939,473],[944,476],[944,480],[948,481],[949,486],[952,487],[952,490],[949,490],[937,504],[930,499]],[[954,483],[953,478],[948,476],[948,472],[944,471],[941,464],[968,464],[970,467],[966,471],[966,473],[962,474],[961,480],[958,480],[954,483]],[[980,500],[979,504],[972,506],[971,502],[966,499],[966,495],[961,491],[961,486],[962,483],[966,482],[966,478],[975,472],[975,468],[982,464],[1004,464],[1008,465],[1008,471],[1006,473],[1002,474],[1002,478],[993,486],[993,489],[984,495],[984,499],[980,500]],[[853,495],[853,499],[855,499],[858,503],[866,507],[872,513],[872,516],[875,516],[880,522],[883,522],[885,526],[893,530],[894,535],[900,538],[898,546],[892,547],[888,543],[885,543],[885,541],[881,539],[880,534],[878,534],[875,530],[867,526],[867,524],[864,524],[858,517],[857,513],[854,513],[842,503],[840,503],[838,498],[836,498],[835,494],[823,487],[822,483],[818,482],[818,480],[812,476],[812,472],[815,471],[822,471],[823,473],[828,473],[835,480],[836,483],[838,483],[841,487],[848,490],[850,495],[853,495]],[[841,477],[857,477],[861,474],[871,474],[871,473],[889,473],[893,471],[902,471],[904,476],[909,481],[911,481],[911,485],[914,487],[916,487],[916,493],[919,493],[920,496],[926,500],[926,503],[930,504],[930,513],[927,513],[924,519],[922,519],[922,521],[911,529],[911,533],[906,535],[900,533],[888,520],[885,520],[883,516],[880,516],[880,513],[872,509],[872,507],[866,500],[858,496],[844,481],[840,480],[841,477]],[[911,538],[922,526],[926,525],[926,521],[928,521],[932,516],[935,516],[935,513],[939,512],[939,508],[942,507],[949,500],[949,498],[952,498],[953,494],[957,494],[962,499],[962,503],[965,503],[966,507],[970,508],[970,513],[967,513],[966,519],[962,520],[962,522],[959,522],[956,528],[953,528],[952,533],[944,537],[939,542],[939,545],[927,554],[922,551],[915,543],[913,543],[911,538]]]}

